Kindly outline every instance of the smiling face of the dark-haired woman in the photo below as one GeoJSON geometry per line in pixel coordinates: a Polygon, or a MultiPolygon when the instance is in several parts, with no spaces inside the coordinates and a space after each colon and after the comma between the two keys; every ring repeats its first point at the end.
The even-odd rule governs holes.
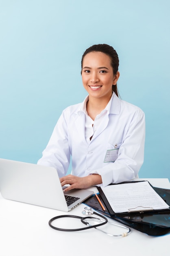
{"type": "Polygon", "coordinates": [[[89,99],[109,99],[112,95],[112,85],[116,85],[119,72],[113,74],[111,59],[102,52],[89,52],[83,58],[82,81],[89,99]]]}

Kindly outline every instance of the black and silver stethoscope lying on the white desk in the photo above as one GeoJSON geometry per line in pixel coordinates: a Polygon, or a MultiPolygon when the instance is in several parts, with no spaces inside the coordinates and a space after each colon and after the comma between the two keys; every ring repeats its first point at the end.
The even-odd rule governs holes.
{"type": "Polygon", "coordinates": [[[127,231],[123,232],[122,234],[119,234],[119,235],[113,235],[113,234],[110,234],[108,232],[103,231],[102,229],[98,229],[98,230],[107,234],[107,235],[109,235],[109,236],[127,236],[131,232],[131,229],[129,229],[128,227],[125,227],[125,226],[122,226],[122,225],[119,225],[119,224],[116,224],[116,223],[109,222],[105,216],[102,216],[99,213],[94,212],[91,207],[85,207],[85,209],[84,209],[84,211],[82,211],[82,213],[83,213],[83,215],[86,215],[86,217],[80,217],[80,216],[74,216],[74,215],[60,215],[60,216],[56,216],[56,217],[50,219],[48,224],[50,225],[50,227],[52,227],[52,229],[56,229],[56,230],[60,230],[60,231],[81,231],[81,230],[92,229],[92,228],[98,229],[97,227],[105,225],[106,223],[108,223],[110,225],[115,225],[115,226],[121,227],[123,229],[126,229],[127,231]],[[90,215],[93,215],[93,214],[99,216],[100,218],[91,217],[90,215]],[[88,226],[83,227],[83,228],[78,228],[78,229],[62,229],[62,228],[53,226],[52,222],[54,220],[57,220],[57,219],[60,219],[60,218],[78,218],[78,219],[81,220],[81,222],[83,224],[85,224],[86,226],[88,225],[88,226]],[[90,220],[98,222],[98,224],[91,225],[90,220]]]}

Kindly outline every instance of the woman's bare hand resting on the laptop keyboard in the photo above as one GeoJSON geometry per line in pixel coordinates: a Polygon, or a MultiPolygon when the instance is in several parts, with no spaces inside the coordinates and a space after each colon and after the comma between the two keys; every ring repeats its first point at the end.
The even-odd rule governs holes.
{"type": "Polygon", "coordinates": [[[70,186],[65,189],[66,192],[71,189],[87,189],[90,186],[100,184],[102,183],[102,178],[99,174],[92,174],[85,177],[77,177],[69,174],[60,178],[60,182],[61,186],[64,186],[65,184],[70,184],[70,186]]]}

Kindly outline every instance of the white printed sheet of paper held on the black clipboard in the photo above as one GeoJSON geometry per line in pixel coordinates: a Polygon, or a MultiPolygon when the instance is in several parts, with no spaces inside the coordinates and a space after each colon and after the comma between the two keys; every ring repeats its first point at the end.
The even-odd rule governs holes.
{"type": "Polygon", "coordinates": [[[169,209],[148,181],[101,187],[115,213],[169,209]]]}

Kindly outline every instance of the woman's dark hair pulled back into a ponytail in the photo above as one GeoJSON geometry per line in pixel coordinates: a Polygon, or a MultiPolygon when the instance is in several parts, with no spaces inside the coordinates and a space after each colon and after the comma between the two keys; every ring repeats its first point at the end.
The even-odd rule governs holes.
{"type": "MultiPolygon", "coordinates": [[[[85,52],[82,56],[82,59],[81,59],[81,69],[83,67],[83,59],[84,59],[85,55],[89,52],[102,52],[102,53],[107,54],[111,59],[111,66],[113,67],[113,74],[115,75],[118,72],[118,67],[119,67],[118,54],[115,51],[115,49],[113,49],[112,46],[106,45],[106,44],[92,45],[87,50],[85,50],[85,52]]],[[[118,93],[117,84],[112,85],[112,91],[115,92],[116,95],[118,96],[119,93],[118,93]]]]}

